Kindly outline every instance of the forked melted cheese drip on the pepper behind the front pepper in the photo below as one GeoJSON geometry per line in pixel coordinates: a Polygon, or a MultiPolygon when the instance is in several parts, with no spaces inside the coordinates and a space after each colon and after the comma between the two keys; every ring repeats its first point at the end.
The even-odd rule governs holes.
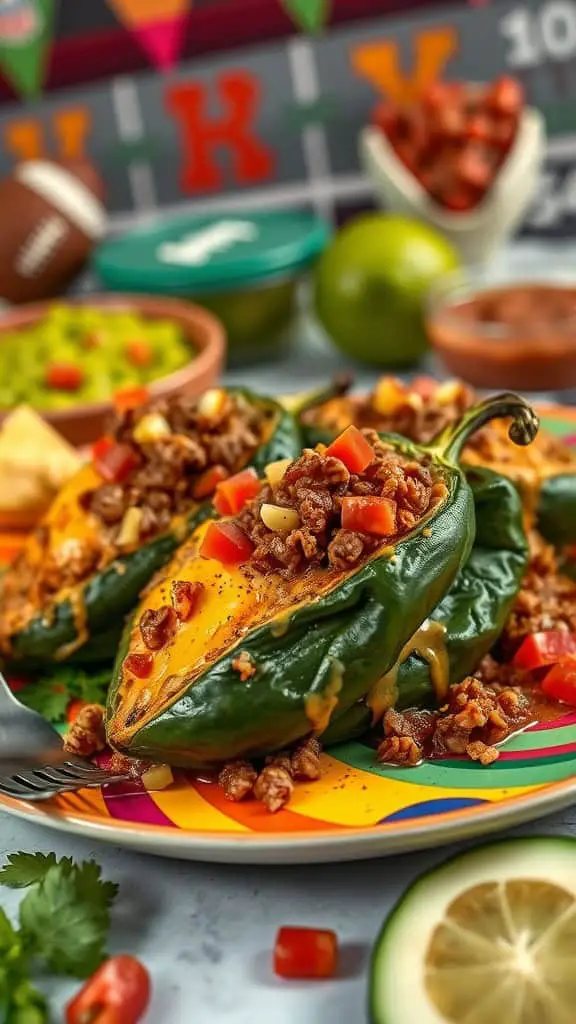
{"type": "Polygon", "coordinates": [[[429,666],[436,699],[443,703],[450,683],[450,659],[446,648],[446,627],[426,618],[414,636],[402,648],[396,664],[370,690],[366,703],[372,711],[373,721],[378,722],[398,699],[398,673],[401,665],[411,654],[419,656],[429,666]]]}

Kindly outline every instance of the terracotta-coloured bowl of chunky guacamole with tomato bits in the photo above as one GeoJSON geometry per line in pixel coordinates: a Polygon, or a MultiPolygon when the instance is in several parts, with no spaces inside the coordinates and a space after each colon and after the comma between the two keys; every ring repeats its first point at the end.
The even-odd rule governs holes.
{"type": "Polygon", "coordinates": [[[0,419],[30,406],[74,444],[101,435],[115,395],[201,394],[225,339],[212,313],[178,299],[89,295],[0,316],[0,419]]]}

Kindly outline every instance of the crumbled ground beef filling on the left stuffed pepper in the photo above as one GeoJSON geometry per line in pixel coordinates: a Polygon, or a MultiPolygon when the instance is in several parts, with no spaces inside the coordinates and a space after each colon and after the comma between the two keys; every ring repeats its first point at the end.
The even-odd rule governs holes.
{"type": "Polygon", "coordinates": [[[207,472],[211,468],[225,478],[256,450],[262,435],[261,413],[242,396],[218,394],[221,400],[209,412],[203,411],[202,401],[176,395],[118,418],[114,437],[130,450],[134,467],[121,483],[102,483],[84,495],[82,502],[100,519],[111,544],[118,541],[129,509],[140,512],[140,540],[160,534],[192,502],[210,497],[213,487],[209,487],[207,472]],[[151,417],[162,418],[168,432],[142,440],[142,422],[147,418],[150,422],[151,417]]]}

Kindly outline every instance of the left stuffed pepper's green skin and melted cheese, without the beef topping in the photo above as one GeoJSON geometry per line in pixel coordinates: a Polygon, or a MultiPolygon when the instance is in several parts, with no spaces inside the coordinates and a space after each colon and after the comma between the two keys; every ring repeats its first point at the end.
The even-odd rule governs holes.
{"type": "MultiPolygon", "coordinates": [[[[262,414],[262,443],[248,460],[260,472],[277,459],[294,457],[301,447],[296,420],[271,398],[245,390],[231,393],[255,406],[262,414]]],[[[239,469],[242,467],[239,467],[239,469]]],[[[92,465],[87,465],[71,480],[48,512],[45,523],[56,531],[66,524],[66,542],[83,538],[86,512],[80,497],[100,483],[92,465]]],[[[0,650],[16,668],[34,668],[50,660],[101,662],[114,658],[122,634],[124,618],[132,610],[138,596],[154,573],[171,557],[179,544],[199,522],[211,514],[211,500],[194,504],[186,517],[173,521],[169,531],[154,537],[129,554],[114,558],[100,571],[72,591],[64,591],[48,607],[34,607],[34,599],[26,606],[28,621],[13,629],[8,602],[0,610],[0,650]]],[[[59,536],[59,535],[58,535],[59,536]]],[[[2,587],[10,586],[28,564],[44,556],[37,535],[33,535],[23,555],[5,573],[2,587]],[[8,582],[8,584],[7,584],[8,582]]],[[[17,584],[16,584],[17,586],[17,584]]]]}

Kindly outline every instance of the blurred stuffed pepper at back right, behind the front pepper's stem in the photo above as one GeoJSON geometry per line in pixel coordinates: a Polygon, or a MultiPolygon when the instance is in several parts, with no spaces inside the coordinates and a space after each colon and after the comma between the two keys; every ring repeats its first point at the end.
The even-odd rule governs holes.
{"type": "MultiPolygon", "coordinates": [[[[378,431],[402,434],[416,443],[427,442],[441,427],[455,422],[476,400],[471,388],[459,381],[439,383],[416,378],[404,385],[382,377],[366,395],[345,394],[342,387],[325,397],[325,389],[298,396],[302,427],[308,443],[329,441],[354,423],[378,431]]],[[[576,458],[545,429],[529,452],[510,444],[507,423],[496,421],[476,434],[463,461],[487,466],[509,476],[520,488],[525,507],[550,544],[576,544],[576,458]]],[[[545,423],[544,423],[545,426],[545,423]]]]}

